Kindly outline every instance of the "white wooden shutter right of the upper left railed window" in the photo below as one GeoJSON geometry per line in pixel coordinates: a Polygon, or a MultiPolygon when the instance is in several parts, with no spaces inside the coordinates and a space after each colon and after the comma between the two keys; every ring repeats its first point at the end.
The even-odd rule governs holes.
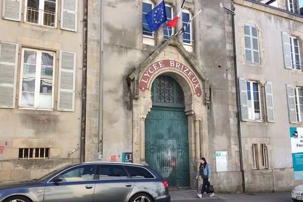
{"type": "Polygon", "coordinates": [[[62,0],[61,4],[61,29],[76,32],[78,0],[62,0]]]}

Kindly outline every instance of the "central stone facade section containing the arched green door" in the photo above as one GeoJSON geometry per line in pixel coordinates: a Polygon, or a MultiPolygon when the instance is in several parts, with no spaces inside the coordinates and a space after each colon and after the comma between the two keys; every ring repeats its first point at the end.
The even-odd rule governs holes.
{"type": "MultiPolygon", "coordinates": [[[[89,1],[85,161],[122,162],[131,153],[171,187],[194,188],[206,157],[215,189],[241,192],[232,23],[221,7],[230,1],[185,1],[183,25],[203,9],[188,41],[169,38],[163,26],[144,29],[145,9],[160,2],[89,1]],[[217,172],[216,151],[227,153],[224,172],[217,172]]],[[[181,4],[166,1],[171,16],[181,4]]]]}

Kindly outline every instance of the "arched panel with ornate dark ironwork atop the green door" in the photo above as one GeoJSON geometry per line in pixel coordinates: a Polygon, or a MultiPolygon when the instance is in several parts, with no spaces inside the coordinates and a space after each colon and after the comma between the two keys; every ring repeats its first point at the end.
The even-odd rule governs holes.
{"type": "Polygon", "coordinates": [[[179,83],[169,76],[158,76],[151,85],[153,105],[184,107],[184,94],[179,83]]]}

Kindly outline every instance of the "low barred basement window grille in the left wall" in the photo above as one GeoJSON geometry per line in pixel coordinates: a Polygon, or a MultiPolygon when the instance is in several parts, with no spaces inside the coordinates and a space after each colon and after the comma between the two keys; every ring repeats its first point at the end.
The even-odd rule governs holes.
{"type": "Polygon", "coordinates": [[[19,159],[49,159],[49,148],[19,148],[19,159]]]}

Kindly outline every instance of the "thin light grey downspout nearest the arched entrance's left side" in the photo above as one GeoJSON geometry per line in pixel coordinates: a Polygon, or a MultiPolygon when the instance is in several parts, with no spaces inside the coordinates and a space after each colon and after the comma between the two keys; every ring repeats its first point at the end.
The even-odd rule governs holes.
{"type": "Polygon", "coordinates": [[[98,116],[98,159],[103,160],[103,43],[104,43],[104,1],[101,0],[100,5],[100,71],[99,71],[99,116],[98,116]]]}

